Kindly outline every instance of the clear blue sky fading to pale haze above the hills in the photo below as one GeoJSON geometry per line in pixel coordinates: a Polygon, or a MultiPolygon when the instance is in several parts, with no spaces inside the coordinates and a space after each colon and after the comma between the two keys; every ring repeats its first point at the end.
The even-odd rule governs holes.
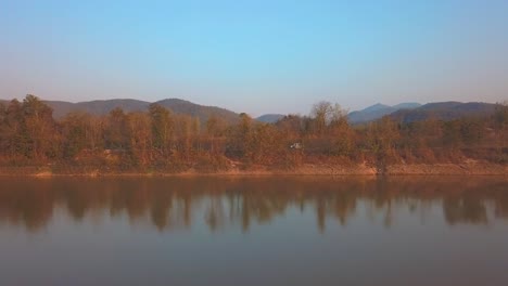
{"type": "Polygon", "coordinates": [[[0,0],[0,98],[252,115],[508,100],[508,1],[0,0]]]}

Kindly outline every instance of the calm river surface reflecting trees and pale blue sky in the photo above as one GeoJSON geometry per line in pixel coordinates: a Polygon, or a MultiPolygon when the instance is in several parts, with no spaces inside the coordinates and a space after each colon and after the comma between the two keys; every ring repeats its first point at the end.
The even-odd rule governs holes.
{"type": "Polygon", "coordinates": [[[0,285],[508,285],[508,180],[3,178],[0,285]]]}

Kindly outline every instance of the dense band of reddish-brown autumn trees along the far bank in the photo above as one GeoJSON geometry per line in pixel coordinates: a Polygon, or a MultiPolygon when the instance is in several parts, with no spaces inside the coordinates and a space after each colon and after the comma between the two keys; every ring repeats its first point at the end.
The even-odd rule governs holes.
{"type": "Polygon", "coordinates": [[[106,116],[73,112],[55,120],[37,96],[0,103],[0,166],[47,168],[55,173],[214,172],[291,170],[305,164],[508,164],[508,105],[455,120],[402,122],[390,117],[351,126],[338,104],[320,102],[308,116],[263,123],[246,114],[238,123],[212,115],[113,109],[106,116]]]}

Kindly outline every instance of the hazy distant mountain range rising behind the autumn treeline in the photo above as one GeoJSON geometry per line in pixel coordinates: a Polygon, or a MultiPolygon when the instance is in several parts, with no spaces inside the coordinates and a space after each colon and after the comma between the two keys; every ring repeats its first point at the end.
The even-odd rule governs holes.
{"type": "MultiPolygon", "coordinates": [[[[43,101],[53,108],[53,116],[62,118],[71,112],[86,112],[92,115],[106,115],[115,107],[120,107],[125,112],[145,112],[150,106],[150,102],[138,100],[105,100],[71,103],[63,101],[43,101]]],[[[0,100],[0,103],[8,104],[5,100],[0,100]]],[[[175,114],[186,114],[200,118],[205,122],[212,115],[223,118],[227,122],[237,122],[239,114],[216,107],[204,106],[189,101],[179,99],[167,99],[154,102],[160,104],[175,114]]],[[[412,122],[435,118],[439,120],[452,120],[466,116],[485,116],[493,114],[495,104],[481,102],[436,102],[421,105],[419,103],[401,103],[397,105],[374,104],[361,110],[352,112],[347,115],[347,119],[353,125],[365,123],[390,116],[392,119],[403,122],[412,122]]],[[[266,114],[255,118],[257,121],[274,123],[284,115],[282,114],[266,114]]]]}

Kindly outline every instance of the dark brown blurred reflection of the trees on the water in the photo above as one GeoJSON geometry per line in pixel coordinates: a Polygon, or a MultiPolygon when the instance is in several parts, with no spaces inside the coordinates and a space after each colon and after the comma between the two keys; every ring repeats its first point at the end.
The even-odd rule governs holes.
{"type": "Polygon", "coordinates": [[[160,231],[188,229],[198,221],[211,231],[239,226],[247,231],[284,216],[289,208],[314,211],[327,221],[347,224],[359,212],[394,223],[397,211],[426,213],[443,208],[448,224],[486,224],[508,218],[508,182],[492,178],[158,178],[158,179],[2,179],[0,223],[45,227],[58,208],[75,222],[87,216],[125,216],[160,231]],[[490,211],[492,210],[492,211],[490,211]],[[364,211],[364,210],[363,210],[364,211]],[[102,214],[101,214],[102,213],[102,214]]]}

